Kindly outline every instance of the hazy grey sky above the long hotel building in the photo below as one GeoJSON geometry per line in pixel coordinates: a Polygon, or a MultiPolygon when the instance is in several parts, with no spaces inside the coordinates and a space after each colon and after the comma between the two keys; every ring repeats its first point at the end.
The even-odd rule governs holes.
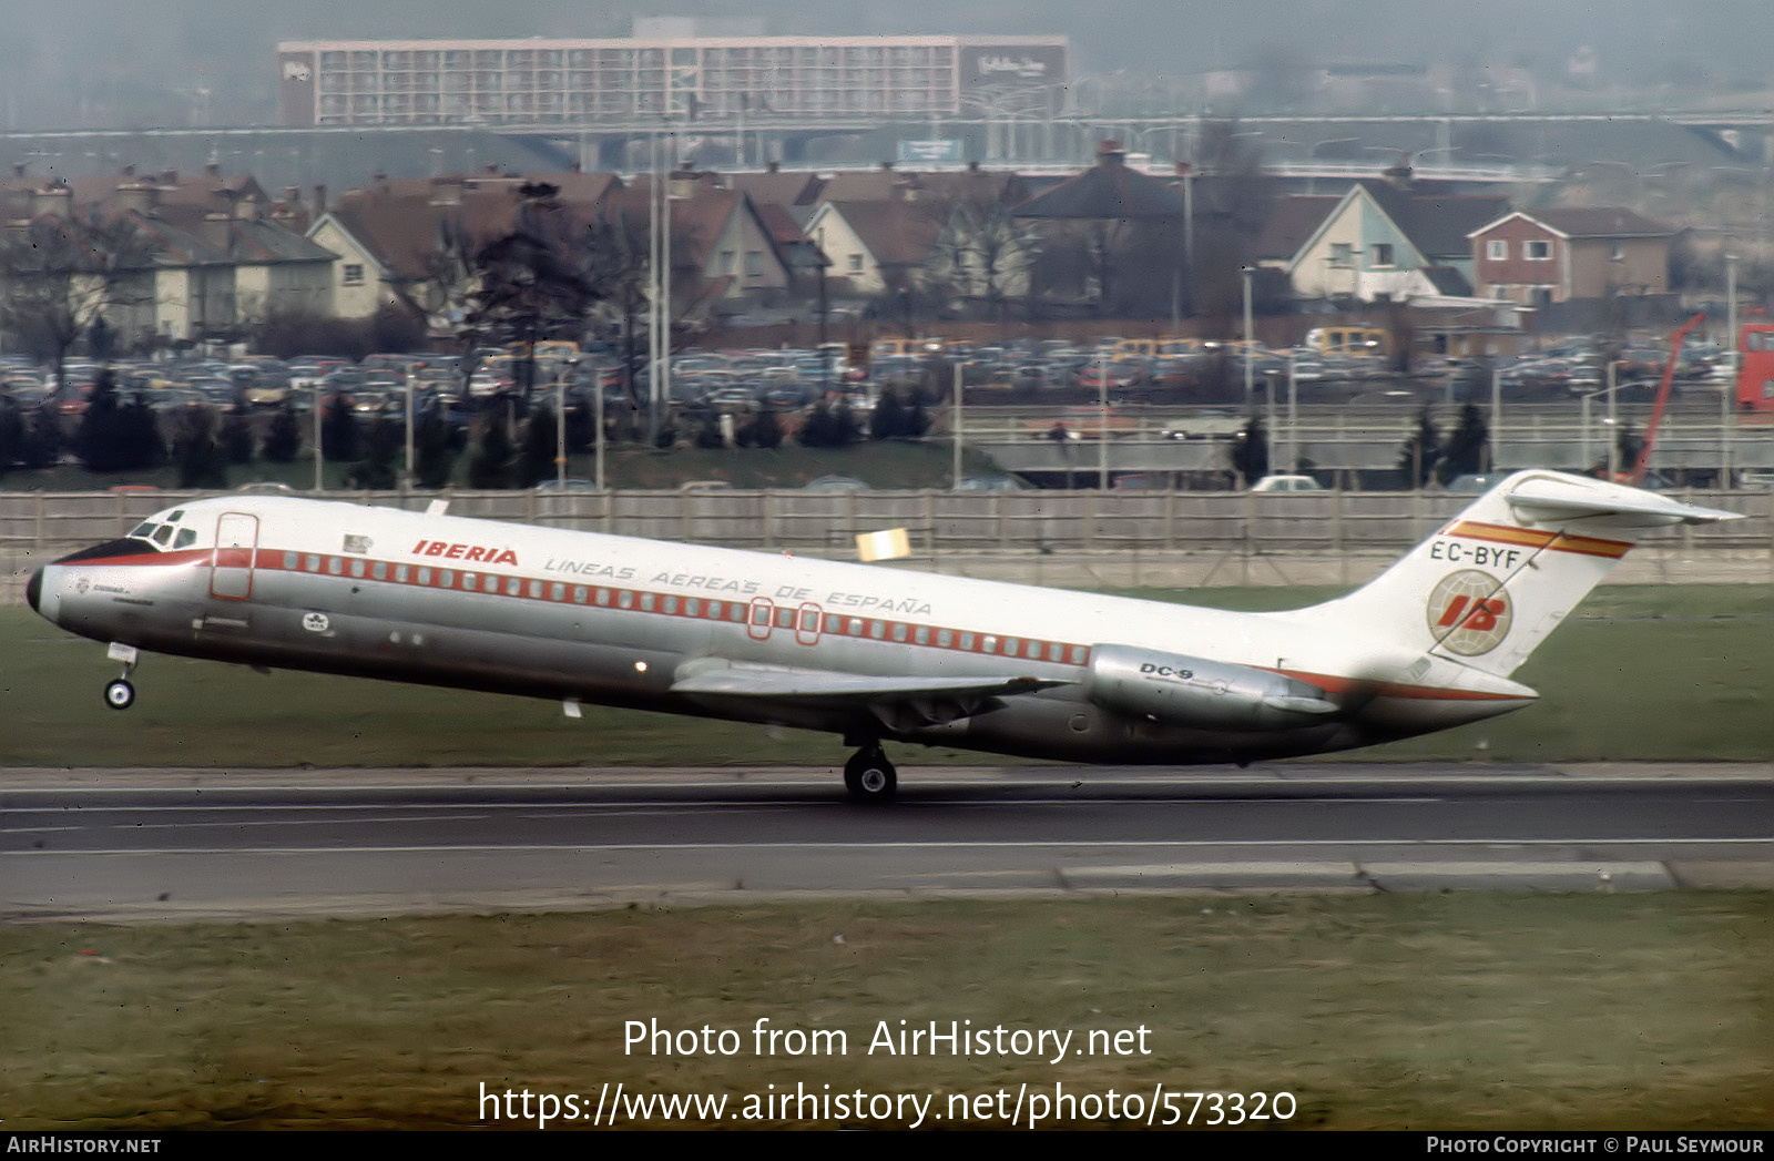
{"type": "MultiPolygon", "coordinates": [[[[192,108],[209,101],[211,124],[238,124],[273,105],[279,39],[623,36],[635,11],[598,0],[0,0],[0,115],[66,128],[105,107],[176,108],[184,94],[192,108]]],[[[1769,0],[683,0],[640,14],[754,18],[772,34],[1064,34],[1075,69],[1093,73],[1258,57],[1547,69],[1591,46],[1614,82],[1726,87],[1765,83],[1769,11],[1769,0]]]]}

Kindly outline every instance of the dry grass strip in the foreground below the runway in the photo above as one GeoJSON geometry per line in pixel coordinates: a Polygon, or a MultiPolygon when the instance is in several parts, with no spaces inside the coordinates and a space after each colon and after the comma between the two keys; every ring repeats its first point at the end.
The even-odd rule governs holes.
{"type": "MultiPolygon", "coordinates": [[[[1288,1090],[1288,1127],[1774,1122],[1774,896],[828,904],[0,932],[0,1117],[463,1127],[532,1094],[1288,1090]],[[92,952],[92,953],[83,953],[92,952]],[[624,1021],[736,1056],[624,1054],[624,1021]],[[749,1030],[843,1030],[761,1058],[749,1030]],[[1150,1054],[869,1054],[898,1028],[1150,1028],[1150,1054]]],[[[938,1111],[944,1108],[938,1095],[938,1111]]],[[[660,1124],[660,1122],[649,1122],[660,1124]]],[[[830,1127],[830,1122],[818,1122],[830,1127]]]]}

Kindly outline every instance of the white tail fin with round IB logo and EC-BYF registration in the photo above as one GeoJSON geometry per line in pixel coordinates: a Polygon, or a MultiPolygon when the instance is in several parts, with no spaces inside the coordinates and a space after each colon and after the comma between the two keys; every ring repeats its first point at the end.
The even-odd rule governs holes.
{"type": "Polygon", "coordinates": [[[1735,518],[1600,479],[1517,472],[1318,609],[1373,639],[1508,676],[1646,531],[1735,518]]]}

